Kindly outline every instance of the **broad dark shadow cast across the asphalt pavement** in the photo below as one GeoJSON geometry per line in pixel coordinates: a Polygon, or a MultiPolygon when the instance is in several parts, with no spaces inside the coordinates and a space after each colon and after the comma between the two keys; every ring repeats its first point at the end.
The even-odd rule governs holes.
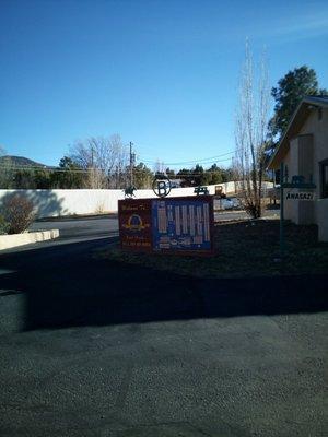
{"type": "Polygon", "coordinates": [[[90,245],[31,250],[25,267],[0,276],[0,288],[24,295],[25,330],[328,309],[327,275],[200,280],[94,259],[90,245]]]}

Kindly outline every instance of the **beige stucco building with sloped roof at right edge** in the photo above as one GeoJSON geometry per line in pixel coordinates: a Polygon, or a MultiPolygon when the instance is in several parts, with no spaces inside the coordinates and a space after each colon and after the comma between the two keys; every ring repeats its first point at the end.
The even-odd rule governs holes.
{"type": "Polygon", "coordinates": [[[281,163],[284,180],[301,175],[316,184],[314,201],[285,200],[285,218],[317,224],[319,240],[328,241],[328,96],[308,96],[301,102],[269,168],[278,170],[281,163]]]}

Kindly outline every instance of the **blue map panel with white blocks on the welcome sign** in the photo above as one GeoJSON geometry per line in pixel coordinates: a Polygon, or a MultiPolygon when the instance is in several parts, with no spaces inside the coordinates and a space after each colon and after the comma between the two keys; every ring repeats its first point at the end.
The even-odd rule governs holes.
{"type": "Polygon", "coordinates": [[[153,250],[211,251],[211,202],[208,197],[153,200],[153,250]]]}

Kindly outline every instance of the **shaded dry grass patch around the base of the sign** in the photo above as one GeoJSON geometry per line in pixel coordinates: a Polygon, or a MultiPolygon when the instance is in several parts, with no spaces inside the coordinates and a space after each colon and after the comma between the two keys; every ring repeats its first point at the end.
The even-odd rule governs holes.
{"type": "Polygon", "coordinates": [[[199,277],[246,277],[328,273],[328,244],[317,243],[317,226],[285,224],[286,255],[280,260],[279,221],[235,221],[215,226],[215,256],[181,257],[122,252],[98,256],[199,277]]]}

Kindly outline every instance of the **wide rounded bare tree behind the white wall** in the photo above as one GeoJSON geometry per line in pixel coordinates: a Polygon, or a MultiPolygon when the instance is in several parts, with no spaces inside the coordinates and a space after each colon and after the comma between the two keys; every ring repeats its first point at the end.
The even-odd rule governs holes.
{"type": "Polygon", "coordinates": [[[127,147],[118,134],[109,138],[91,137],[77,141],[70,157],[86,170],[87,188],[109,188],[117,181],[117,173],[124,172],[128,163],[127,147]]]}

